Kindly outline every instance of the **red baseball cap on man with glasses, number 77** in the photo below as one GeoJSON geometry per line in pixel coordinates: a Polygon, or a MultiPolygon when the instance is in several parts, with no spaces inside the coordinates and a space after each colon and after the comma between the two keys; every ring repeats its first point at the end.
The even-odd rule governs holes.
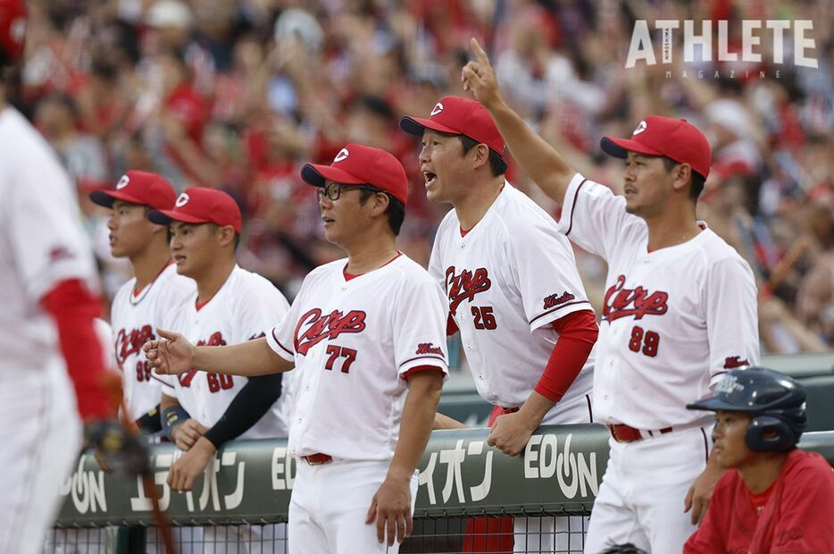
{"type": "Polygon", "coordinates": [[[408,203],[408,179],[403,164],[381,148],[349,144],[338,151],[329,165],[305,164],[301,178],[314,187],[329,179],[343,185],[371,185],[408,203]]]}

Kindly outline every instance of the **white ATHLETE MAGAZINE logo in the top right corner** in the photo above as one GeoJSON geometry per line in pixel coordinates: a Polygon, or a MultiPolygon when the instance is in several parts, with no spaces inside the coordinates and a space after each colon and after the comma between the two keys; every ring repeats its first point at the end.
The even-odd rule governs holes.
{"type": "MultiPolygon", "coordinates": [[[[657,20],[654,30],[653,39],[648,21],[634,22],[626,69],[638,63],[655,65],[658,57],[659,63],[671,64],[679,55],[683,56],[684,63],[723,63],[721,70],[712,72],[692,67],[676,70],[680,72],[675,77],[682,79],[748,79],[756,76],[780,79],[779,66],[791,62],[797,67],[819,66],[813,57],[816,41],[811,37],[811,20],[742,20],[732,24],[726,20],[657,20]],[[793,60],[788,60],[788,55],[792,55],[793,60]],[[771,71],[760,69],[763,65],[771,67],[771,71]]],[[[671,79],[672,74],[673,71],[666,71],[666,79],[671,79]]]]}

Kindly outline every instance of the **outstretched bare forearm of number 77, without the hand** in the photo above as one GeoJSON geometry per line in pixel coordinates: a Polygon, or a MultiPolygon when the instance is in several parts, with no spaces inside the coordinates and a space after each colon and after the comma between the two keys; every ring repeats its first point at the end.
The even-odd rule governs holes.
{"type": "Polygon", "coordinates": [[[294,367],[273,352],[264,338],[225,347],[197,347],[192,363],[204,372],[244,376],[277,374],[294,367]]]}

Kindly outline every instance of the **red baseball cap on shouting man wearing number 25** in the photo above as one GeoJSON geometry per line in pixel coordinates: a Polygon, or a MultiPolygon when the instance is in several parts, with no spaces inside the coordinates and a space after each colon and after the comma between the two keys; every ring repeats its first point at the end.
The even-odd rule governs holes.
{"type": "Polygon", "coordinates": [[[484,143],[500,156],[504,155],[506,146],[487,108],[469,98],[443,97],[432,108],[429,119],[406,115],[400,119],[400,129],[417,137],[422,137],[426,129],[466,135],[484,143]]]}

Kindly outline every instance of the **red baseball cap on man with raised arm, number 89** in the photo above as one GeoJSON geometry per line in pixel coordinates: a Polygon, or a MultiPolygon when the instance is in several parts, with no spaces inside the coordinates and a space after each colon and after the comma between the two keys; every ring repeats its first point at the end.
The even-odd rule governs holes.
{"type": "Polygon", "coordinates": [[[603,137],[599,146],[605,154],[618,158],[625,158],[629,152],[665,155],[679,164],[689,164],[704,179],[710,174],[710,143],[701,130],[685,119],[649,115],[630,139],[603,137]]]}

